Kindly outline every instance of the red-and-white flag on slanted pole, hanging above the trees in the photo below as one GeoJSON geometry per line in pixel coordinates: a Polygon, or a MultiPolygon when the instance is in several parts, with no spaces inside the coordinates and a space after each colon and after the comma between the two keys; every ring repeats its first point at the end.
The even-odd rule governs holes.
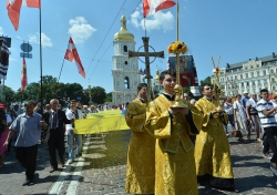
{"type": "Polygon", "coordinates": [[[73,42],[73,40],[70,38],[69,40],[69,47],[68,47],[68,50],[65,52],[65,55],[64,55],[64,59],[69,60],[72,62],[72,60],[74,59],[75,60],[75,63],[76,63],[76,68],[78,68],[78,72],[83,76],[85,78],[85,72],[84,72],[84,68],[82,65],[82,62],[80,60],[80,57],[78,54],[78,51],[76,51],[76,48],[75,48],[75,44],[73,42]]]}

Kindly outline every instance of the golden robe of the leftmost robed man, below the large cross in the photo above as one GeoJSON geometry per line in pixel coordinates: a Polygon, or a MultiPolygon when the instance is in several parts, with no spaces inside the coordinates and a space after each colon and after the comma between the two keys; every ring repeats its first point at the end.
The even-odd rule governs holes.
{"type": "Polygon", "coordinates": [[[126,163],[125,192],[153,194],[155,185],[155,138],[144,129],[146,104],[140,99],[129,103],[125,120],[132,130],[126,163]]]}

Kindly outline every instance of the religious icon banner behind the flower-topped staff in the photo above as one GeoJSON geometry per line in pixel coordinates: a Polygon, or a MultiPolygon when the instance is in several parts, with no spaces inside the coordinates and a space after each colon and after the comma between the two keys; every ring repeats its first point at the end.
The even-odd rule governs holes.
{"type": "MultiPolygon", "coordinates": [[[[176,57],[170,57],[167,69],[176,70],[176,57]]],[[[197,71],[193,55],[179,55],[179,84],[184,86],[198,86],[197,71]]]]}

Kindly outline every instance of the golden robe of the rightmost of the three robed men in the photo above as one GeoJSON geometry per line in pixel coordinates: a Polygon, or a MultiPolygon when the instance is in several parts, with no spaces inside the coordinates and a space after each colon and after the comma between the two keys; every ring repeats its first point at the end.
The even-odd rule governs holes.
{"type": "Polygon", "coordinates": [[[228,115],[211,117],[211,112],[217,107],[215,101],[199,99],[195,106],[203,113],[203,126],[195,142],[195,164],[197,176],[209,174],[219,178],[233,178],[229,143],[226,137],[223,122],[228,115]]]}

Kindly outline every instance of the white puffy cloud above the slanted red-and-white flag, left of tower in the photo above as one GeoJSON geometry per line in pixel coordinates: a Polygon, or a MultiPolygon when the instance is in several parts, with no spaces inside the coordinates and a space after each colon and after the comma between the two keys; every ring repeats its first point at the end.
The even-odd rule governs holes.
{"type": "Polygon", "coordinates": [[[91,27],[83,17],[76,17],[69,21],[71,28],[69,34],[73,39],[74,43],[84,43],[96,31],[91,27]]]}

